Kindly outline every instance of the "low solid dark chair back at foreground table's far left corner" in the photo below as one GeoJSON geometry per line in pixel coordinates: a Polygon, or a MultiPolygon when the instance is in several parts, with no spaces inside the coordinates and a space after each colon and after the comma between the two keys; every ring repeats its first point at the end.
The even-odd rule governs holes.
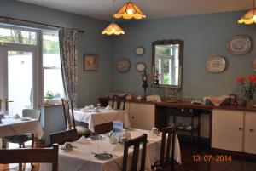
{"type": "Polygon", "coordinates": [[[66,131],[61,131],[53,134],[49,134],[50,145],[55,143],[63,145],[65,142],[72,142],[79,139],[79,134],[77,129],[70,129],[66,131]]]}

